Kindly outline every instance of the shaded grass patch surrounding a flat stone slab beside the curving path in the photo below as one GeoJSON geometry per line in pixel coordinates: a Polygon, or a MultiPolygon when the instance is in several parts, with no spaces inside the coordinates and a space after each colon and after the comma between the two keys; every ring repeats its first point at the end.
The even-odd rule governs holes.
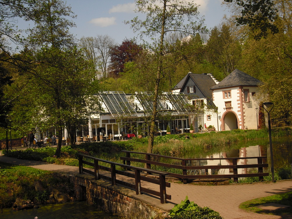
{"type": "Polygon", "coordinates": [[[291,215],[292,216],[292,207],[274,210],[274,211],[264,210],[264,209],[256,207],[259,205],[270,204],[270,203],[291,206],[292,205],[292,191],[282,193],[282,194],[267,196],[263,198],[252,199],[250,201],[241,203],[239,205],[239,208],[245,211],[250,211],[250,212],[259,213],[259,214],[270,214],[270,215],[281,215],[281,216],[291,215]]]}

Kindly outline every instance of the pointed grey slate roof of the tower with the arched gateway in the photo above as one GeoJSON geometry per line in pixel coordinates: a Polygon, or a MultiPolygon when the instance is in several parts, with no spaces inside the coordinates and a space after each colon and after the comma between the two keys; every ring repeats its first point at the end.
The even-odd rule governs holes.
{"type": "Polygon", "coordinates": [[[227,88],[235,86],[258,86],[261,83],[260,80],[251,77],[250,75],[235,69],[227,77],[225,77],[218,84],[211,87],[212,90],[218,88],[227,88]]]}

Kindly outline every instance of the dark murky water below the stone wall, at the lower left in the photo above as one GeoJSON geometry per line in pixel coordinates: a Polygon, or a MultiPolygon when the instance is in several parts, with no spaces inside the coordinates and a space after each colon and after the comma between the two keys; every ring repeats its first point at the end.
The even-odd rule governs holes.
{"type": "Polygon", "coordinates": [[[12,211],[11,208],[3,209],[0,218],[3,219],[121,219],[109,213],[105,213],[97,208],[86,204],[86,201],[74,201],[64,204],[42,205],[38,209],[12,211]]]}

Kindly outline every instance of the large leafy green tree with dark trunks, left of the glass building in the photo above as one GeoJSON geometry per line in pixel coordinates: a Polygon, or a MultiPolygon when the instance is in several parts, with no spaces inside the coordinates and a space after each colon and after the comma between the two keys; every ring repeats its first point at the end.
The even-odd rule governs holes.
{"type": "MultiPolygon", "coordinates": [[[[60,139],[62,128],[66,127],[74,144],[76,126],[91,110],[94,70],[68,31],[74,26],[66,18],[74,16],[68,6],[59,0],[38,0],[33,11],[36,25],[30,29],[31,50],[22,55],[37,62],[27,75],[33,79],[32,92],[36,92],[36,103],[41,106],[34,117],[47,127],[58,128],[60,139]]],[[[61,144],[59,141],[56,156],[60,155],[61,144]]]]}

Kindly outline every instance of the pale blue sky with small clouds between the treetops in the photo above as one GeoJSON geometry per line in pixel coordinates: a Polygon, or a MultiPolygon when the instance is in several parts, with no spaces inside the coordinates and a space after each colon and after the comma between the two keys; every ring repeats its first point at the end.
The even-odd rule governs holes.
{"type": "MultiPolygon", "coordinates": [[[[208,29],[220,24],[223,15],[229,14],[221,5],[222,0],[194,0],[199,6],[200,16],[205,17],[205,25],[208,29]]],[[[76,27],[70,29],[71,33],[80,39],[82,36],[95,37],[97,35],[109,35],[118,44],[124,39],[137,37],[131,25],[124,21],[138,16],[134,0],[67,0],[77,18],[72,19],[76,27]]]]}

